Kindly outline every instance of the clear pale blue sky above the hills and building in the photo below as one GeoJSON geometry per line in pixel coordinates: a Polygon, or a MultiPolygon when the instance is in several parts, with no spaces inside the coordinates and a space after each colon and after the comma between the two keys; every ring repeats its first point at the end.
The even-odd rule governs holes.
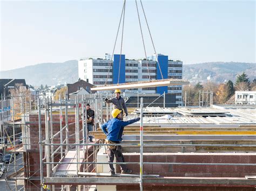
{"type": "MultiPolygon", "coordinates": [[[[185,64],[255,62],[255,1],[143,4],[157,53],[185,64]]],[[[122,5],[123,1],[1,1],[0,69],[111,53],[122,5]]],[[[140,16],[145,23],[142,11],[140,16]]],[[[145,24],[143,31],[151,55],[145,24]]],[[[115,53],[119,51],[120,38],[115,53]]],[[[144,57],[136,5],[128,0],[123,53],[144,57]]]]}

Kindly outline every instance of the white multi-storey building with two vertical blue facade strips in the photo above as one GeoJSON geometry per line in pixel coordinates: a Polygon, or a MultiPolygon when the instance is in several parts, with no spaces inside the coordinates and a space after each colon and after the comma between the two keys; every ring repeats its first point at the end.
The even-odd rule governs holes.
{"type": "MultiPolygon", "coordinates": [[[[81,80],[88,79],[89,83],[96,86],[102,86],[106,80],[107,84],[147,81],[149,74],[152,80],[160,80],[162,75],[164,79],[182,79],[182,61],[170,60],[167,55],[158,54],[158,62],[161,71],[156,56],[149,57],[147,61],[145,59],[126,59],[124,54],[121,55],[121,58],[119,54],[114,54],[113,60],[110,60],[109,54],[106,54],[105,58],[82,58],[78,61],[78,76],[81,80]]],[[[145,94],[173,93],[176,94],[176,104],[182,104],[182,86],[138,88],[130,91],[145,94]]]]}

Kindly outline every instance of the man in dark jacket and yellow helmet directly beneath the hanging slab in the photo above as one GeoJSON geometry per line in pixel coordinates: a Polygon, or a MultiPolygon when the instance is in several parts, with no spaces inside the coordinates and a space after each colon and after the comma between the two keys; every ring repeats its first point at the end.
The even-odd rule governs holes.
{"type": "Polygon", "coordinates": [[[114,109],[119,109],[122,111],[121,115],[122,115],[122,119],[123,119],[123,110],[125,112],[125,116],[128,116],[128,111],[125,105],[125,101],[124,98],[120,96],[121,94],[121,90],[120,89],[116,89],[114,91],[114,94],[116,94],[115,97],[112,97],[110,99],[105,98],[105,102],[106,103],[113,103],[114,104],[114,109]]]}

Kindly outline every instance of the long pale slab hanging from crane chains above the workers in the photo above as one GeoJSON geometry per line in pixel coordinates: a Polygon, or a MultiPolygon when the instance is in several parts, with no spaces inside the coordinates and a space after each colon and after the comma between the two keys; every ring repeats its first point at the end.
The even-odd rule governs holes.
{"type": "Polygon", "coordinates": [[[114,90],[114,89],[150,88],[150,87],[160,87],[160,86],[185,85],[189,83],[190,82],[188,82],[187,80],[182,80],[182,79],[164,79],[164,80],[110,84],[106,86],[97,86],[97,87],[91,88],[91,90],[104,91],[104,90],[114,90]]]}

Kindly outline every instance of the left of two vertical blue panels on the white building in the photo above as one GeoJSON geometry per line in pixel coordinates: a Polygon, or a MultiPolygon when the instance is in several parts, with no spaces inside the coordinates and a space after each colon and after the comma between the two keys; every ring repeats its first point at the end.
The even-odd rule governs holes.
{"type": "MultiPolygon", "coordinates": [[[[113,84],[118,83],[120,54],[114,54],[113,60],[113,84]]],[[[125,83],[125,55],[121,55],[119,83],[125,83]]]]}

